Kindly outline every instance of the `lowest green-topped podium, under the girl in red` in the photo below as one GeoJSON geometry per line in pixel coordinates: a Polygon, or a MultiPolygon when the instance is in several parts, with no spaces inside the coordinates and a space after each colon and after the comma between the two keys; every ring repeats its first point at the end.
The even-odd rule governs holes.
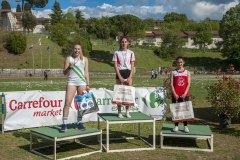
{"type": "Polygon", "coordinates": [[[179,125],[179,131],[173,132],[174,124],[163,124],[160,132],[160,144],[162,149],[178,149],[178,150],[193,150],[213,152],[213,133],[208,125],[188,125],[189,133],[184,132],[184,126],[179,125]],[[207,140],[209,148],[194,148],[194,147],[175,147],[164,145],[165,138],[181,138],[194,140],[207,140]]]}

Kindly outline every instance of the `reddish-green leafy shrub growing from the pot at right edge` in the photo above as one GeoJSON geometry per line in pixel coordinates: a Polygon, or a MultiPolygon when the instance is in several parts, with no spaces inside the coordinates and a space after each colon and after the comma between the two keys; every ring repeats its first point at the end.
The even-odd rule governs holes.
{"type": "Polygon", "coordinates": [[[208,101],[218,115],[228,118],[240,115],[240,83],[231,77],[223,76],[207,88],[208,101]]]}

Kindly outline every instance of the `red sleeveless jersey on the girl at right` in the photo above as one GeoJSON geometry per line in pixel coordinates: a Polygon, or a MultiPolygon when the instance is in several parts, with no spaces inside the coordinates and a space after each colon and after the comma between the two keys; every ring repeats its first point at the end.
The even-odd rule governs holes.
{"type": "MultiPolygon", "coordinates": [[[[188,71],[173,71],[173,87],[175,89],[175,92],[178,96],[181,96],[184,94],[187,86],[188,86],[188,71]]],[[[186,96],[189,96],[189,91],[187,92],[186,96]]]]}

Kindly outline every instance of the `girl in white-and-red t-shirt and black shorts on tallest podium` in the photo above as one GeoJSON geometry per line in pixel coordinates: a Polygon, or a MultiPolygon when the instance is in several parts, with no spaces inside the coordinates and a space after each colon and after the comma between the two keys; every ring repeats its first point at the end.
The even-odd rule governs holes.
{"type": "MultiPolygon", "coordinates": [[[[116,84],[132,86],[132,76],[134,71],[134,52],[128,49],[129,39],[126,36],[120,39],[120,49],[113,55],[114,68],[116,71],[116,84]]],[[[130,106],[126,106],[126,116],[130,118],[130,106]]],[[[118,117],[123,118],[121,105],[118,105],[118,117]]]]}

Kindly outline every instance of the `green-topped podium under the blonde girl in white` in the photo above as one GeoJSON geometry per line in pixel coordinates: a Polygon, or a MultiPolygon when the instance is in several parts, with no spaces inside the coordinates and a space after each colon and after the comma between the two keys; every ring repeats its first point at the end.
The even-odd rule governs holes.
{"type": "MultiPolygon", "coordinates": [[[[98,130],[96,128],[86,128],[85,130],[78,130],[78,129],[75,129],[74,127],[70,127],[66,132],[60,133],[59,129],[60,129],[59,126],[31,129],[30,130],[30,151],[37,155],[43,156],[45,158],[56,160],[57,159],[57,142],[73,140],[73,142],[76,142],[76,143],[80,144],[81,146],[91,148],[94,151],[82,153],[82,154],[78,154],[78,155],[74,155],[74,156],[69,156],[69,157],[65,157],[65,158],[61,158],[61,159],[77,158],[77,157],[82,157],[82,156],[90,155],[90,154],[97,153],[97,152],[102,152],[102,144],[101,144],[102,141],[99,142],[99,145],[100,145],[99,149],[90,147],[86,144],[76,141],[76,139],[78,139],[78,138],[81,139],[84,137],[95,136],[95,135],[100,137],[100,139],[102,139],[102,131],[101,130],[98,130]],[[49,141],[53,142],[53,145],[33,148],[33,138],[34,137],[37,137],[37,138],[40,137],[42,139],[49,140],[49,141]],[[53,157],[50,157],[39,151],[41,149],[49,148],[49,147],[53,147],[53,157]]],[[[72,142],[67,142],[67,143],[72,143],[72,142]]],[[[67,144],[67,143],[64,143],[64,144],[67,144]]],[[[58,144],[58,145],[63,145],[63,144],[58,144]]]]}

